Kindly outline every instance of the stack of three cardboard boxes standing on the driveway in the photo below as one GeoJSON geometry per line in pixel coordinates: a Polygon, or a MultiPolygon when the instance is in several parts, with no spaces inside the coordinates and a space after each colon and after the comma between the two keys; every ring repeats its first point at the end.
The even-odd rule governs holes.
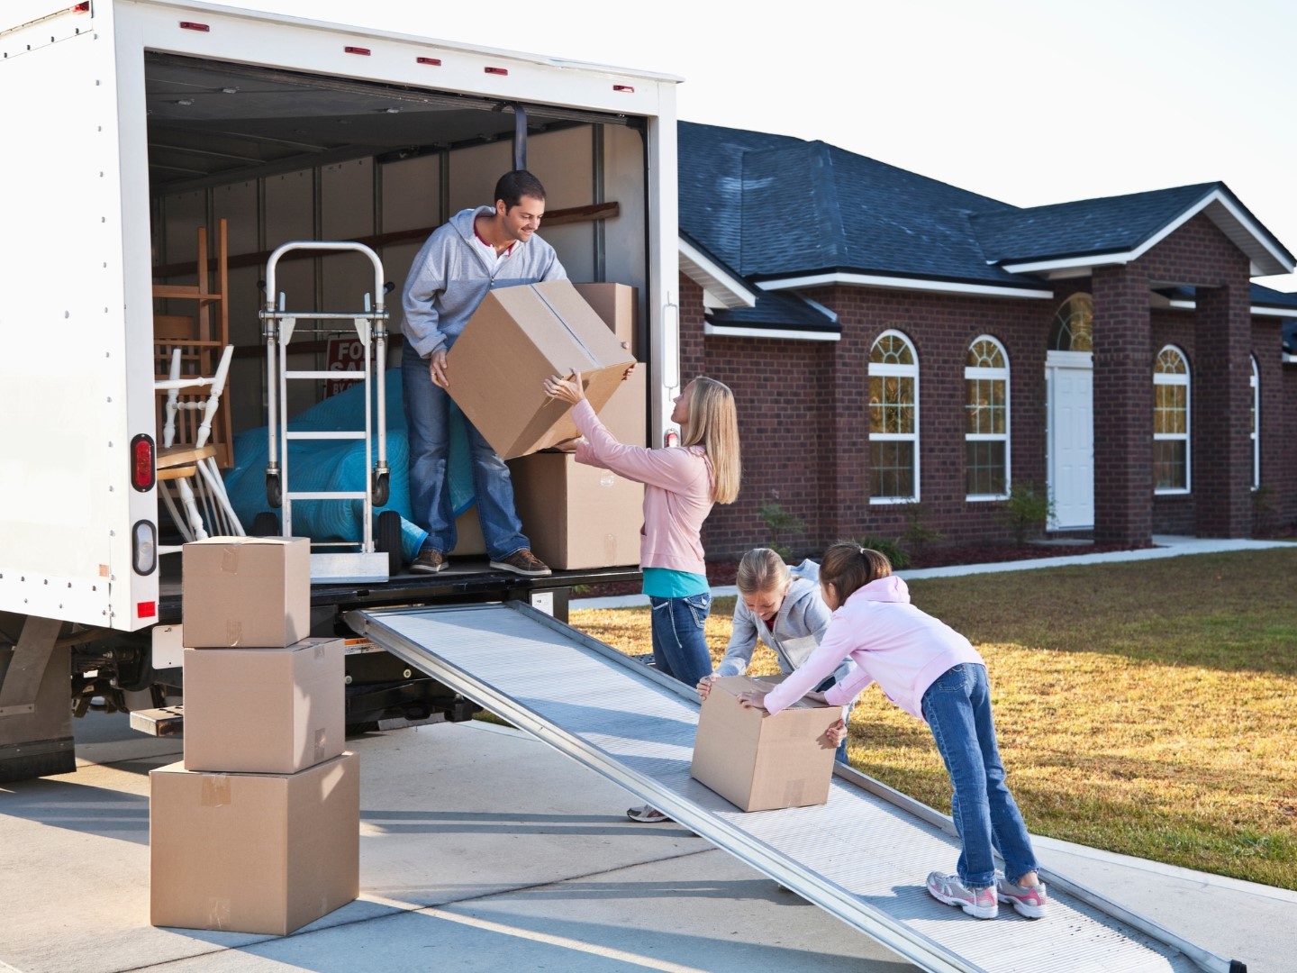
{"type": "Polygon", "coordinates": [[[153,925],[287,935],[359,894],[344,642],[311,638],[310,541],[187,544],[184,760],[153,771],[153,925]]]}

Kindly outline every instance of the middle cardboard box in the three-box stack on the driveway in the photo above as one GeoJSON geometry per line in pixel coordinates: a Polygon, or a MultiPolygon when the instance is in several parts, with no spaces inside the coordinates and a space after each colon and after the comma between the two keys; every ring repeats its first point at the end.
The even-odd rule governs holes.
{"type": "Polygon", "coordinates": [[[184,650],[184,768],[296,773],[342,752],[345,643],[184,650]]]}

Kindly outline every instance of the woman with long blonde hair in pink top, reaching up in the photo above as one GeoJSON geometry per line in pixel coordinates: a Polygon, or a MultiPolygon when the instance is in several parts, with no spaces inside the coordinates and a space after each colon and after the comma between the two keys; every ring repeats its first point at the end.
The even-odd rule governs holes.
{"type": "MultiPolygon", "coordinates": [[[[681,427],[681,445],[646,449],[617,442],[599,422],[581,389],[581,375],[546,379],[545,392],[572,402],[581,431],[578,463],[611,470],[645,485],[645,523],[639,566],[643,593],[652,608],[652,656],[659,671],[687,686],[712,673],[703,627],[711,612],[711,585],[703,563],[703,520],[713,503],[738,496],[739,448],[734,393],[708,378],[696,378],[676,398],[671,420],[681,427]]],[[[652,807],[630,808],[633,821],[667,821],[652,807]]]]}

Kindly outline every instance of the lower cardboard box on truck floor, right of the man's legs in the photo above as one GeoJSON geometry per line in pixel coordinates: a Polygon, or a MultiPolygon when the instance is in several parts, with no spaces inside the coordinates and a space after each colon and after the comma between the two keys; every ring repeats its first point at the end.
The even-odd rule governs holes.
{"type": "Polygon", "coordinates": [[[571,453],[511,459],[514,503],[532,551],[572,571],[639,563],[643,484],[584,466],[571,453]]]}

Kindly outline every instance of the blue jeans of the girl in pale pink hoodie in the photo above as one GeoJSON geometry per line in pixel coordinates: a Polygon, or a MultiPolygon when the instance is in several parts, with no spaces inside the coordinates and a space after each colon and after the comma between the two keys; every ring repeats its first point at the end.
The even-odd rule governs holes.
{"type": "Polygon", "coordinates": [[[955,786],[951,817],[962,842],[958,880],[968,889],[995,885],[992,842],[1004,856],[1004,874],[1010,882],[1035,872],[1031,838],[1004,782],[1004,764],[995,745],[986,666],[965,663],[948,669],[923,693],[923,719],[955,786]]]}

